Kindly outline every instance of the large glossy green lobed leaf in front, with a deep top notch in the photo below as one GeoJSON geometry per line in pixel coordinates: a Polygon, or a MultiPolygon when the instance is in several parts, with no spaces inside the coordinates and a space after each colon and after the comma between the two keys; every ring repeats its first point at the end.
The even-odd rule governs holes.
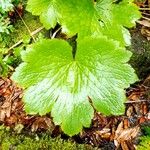
{"type": "Polygon", "coordinates": [[[116,42],[104,37],[77,42],[75,59],[63,40],[33,44],[12,76],[26,89],[27,113],[51,111],[55,124],[71,136],[90,126],[93,107],[105,115],[124,113],[124,88],[137,80],[126,64],[131,53],[116,42]]]}

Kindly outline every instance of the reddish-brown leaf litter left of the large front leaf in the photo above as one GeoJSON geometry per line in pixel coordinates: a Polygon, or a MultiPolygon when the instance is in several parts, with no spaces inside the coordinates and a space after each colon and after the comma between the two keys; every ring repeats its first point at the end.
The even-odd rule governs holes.
{"type": "Polygon", "coordinates": [[[31,131],[53,130],[50,116],[31,116],[24,111],[23,90],[10,79],[0,78],[0,122],[6,126],[23,125],[31,131]]]}

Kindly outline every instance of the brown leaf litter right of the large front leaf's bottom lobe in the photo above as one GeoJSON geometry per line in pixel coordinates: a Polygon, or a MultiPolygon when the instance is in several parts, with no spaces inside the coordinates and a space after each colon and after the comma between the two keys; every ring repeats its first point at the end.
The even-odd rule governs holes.
{"type": "Polygon", "coordinates": [[[149,93],[150,78],[132,85],[126,89],[128,101],[125,103],[125,114],[107,117],[95,113],[91,128],[85,129],[80,138],[104,150],[108,147],[111,150],[135,150],[141,125],[150,121],[149,93]]]}

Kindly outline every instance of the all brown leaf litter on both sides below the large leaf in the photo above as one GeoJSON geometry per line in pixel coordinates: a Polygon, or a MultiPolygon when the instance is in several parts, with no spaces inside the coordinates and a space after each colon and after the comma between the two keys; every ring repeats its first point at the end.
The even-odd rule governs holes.
{"type": "MultiPolygon", "coordinates": [[[[150,124],[150,77],[126,89],[128,101],[122,116],[104,116],[95,112],[90,128],[73,138],[77,142],[92,144],[102,149],[134,150],[140,127],[150,124]]],[[[63,134],[54,126],[49,114],[27,115],[22,102],[23,90],[10,79],[0,78],[0,123],[16,132],[27,129],[31,132],[51,131],[53,136],[63,134]]]]}

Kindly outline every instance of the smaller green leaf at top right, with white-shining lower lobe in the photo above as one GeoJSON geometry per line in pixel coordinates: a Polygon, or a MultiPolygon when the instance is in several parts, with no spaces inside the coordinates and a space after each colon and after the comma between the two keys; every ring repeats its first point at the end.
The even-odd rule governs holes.
{"type": "Polygon", "coordinates": [[[98,0],[95,6],[101,20],[101,32],[120,42],[121,46],[129,46],[130,33],[125,27],[133,27],[141,14],[131,0],[98,0]]]}

